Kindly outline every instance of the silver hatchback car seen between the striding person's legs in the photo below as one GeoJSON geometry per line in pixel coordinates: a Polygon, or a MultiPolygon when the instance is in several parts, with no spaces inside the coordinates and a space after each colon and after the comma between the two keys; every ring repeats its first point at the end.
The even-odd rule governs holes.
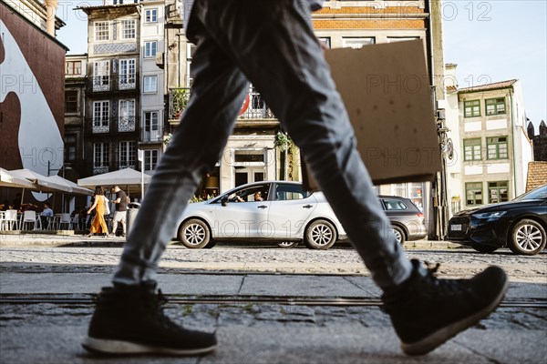
{"type": "Polygon", "coordinates": [[[308,248],[327,249],[347,237],[321,192],[305,192],[298,182],[263,181],[189,204],[177,238],[188,248],[251,239],[284,248],[304,240],[308,248]]]}

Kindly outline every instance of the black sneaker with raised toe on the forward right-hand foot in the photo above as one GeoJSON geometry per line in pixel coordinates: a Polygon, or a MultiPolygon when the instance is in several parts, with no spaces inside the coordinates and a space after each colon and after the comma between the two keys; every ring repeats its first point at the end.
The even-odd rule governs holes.
{"type": "Polygon", "coordinates": [[[423,355],[487,317],[509,285],[505,272],[489,267],[470,279],[438,279],[439,268],[424,269],[418,260],[411,278],[382,296],[408,355],[423,355]]]}

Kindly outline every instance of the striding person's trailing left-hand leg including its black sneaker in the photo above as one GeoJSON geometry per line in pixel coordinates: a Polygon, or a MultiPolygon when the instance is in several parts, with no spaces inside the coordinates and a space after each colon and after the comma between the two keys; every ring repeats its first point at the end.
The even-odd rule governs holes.
{"type": "Polygon", "coordinates": [[[194,83],[131,228],[113,283],[99,295],[82,345],[103,353],[195,355],[216,347],[214,334],[184,329],[163,315],[154,280],[158,260],[201,176],[221,157],[243,104],[241,72],[203,33],[192,59],[194,83]]]}

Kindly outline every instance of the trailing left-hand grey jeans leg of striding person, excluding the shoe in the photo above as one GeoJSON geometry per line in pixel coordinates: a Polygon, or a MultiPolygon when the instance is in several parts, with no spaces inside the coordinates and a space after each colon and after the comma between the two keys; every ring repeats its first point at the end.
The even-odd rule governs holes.
{"type": "Polygon", "coordinates": [[[114,283],[135,285],[155,278],[178,218],[203,174],[221,157],[243,104],[247,81],[211,38],[201,39],[191,65],[189,105],[154,171],[114,283]]]}

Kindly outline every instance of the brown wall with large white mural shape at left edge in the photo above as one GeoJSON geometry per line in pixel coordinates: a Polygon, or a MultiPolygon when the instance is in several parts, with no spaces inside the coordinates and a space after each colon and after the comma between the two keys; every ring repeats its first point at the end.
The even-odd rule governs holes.
{"type": "MultiPolygon", "coordinates": [[[[63,167],[66,48],[0,4],[0,167],[63,167]]],[[[35,194],[41,201],[46,195],[35,194]]]]}

